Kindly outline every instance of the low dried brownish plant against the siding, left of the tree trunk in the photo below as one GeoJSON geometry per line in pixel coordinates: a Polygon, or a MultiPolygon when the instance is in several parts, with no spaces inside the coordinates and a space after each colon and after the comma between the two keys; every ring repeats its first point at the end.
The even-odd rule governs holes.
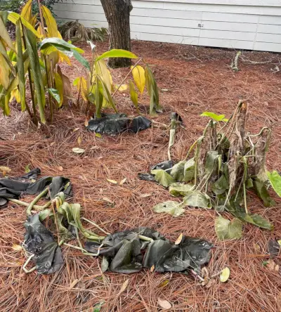
{"type": "Polygon", "coordinates": [[[107,29],[104,27],[85,27],[78,20],[70,20],[58,27],[63,39],[76,41],[103,41],[107,35],[107,29]]]}

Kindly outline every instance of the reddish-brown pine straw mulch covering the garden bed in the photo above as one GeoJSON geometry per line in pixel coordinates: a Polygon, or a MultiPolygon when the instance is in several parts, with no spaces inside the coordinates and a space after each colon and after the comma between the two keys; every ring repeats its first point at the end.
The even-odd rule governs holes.
{"type": "MultiPolygon", "coordinates": [[[[99,50],[106,45],[100,44],[99,50]]],[[[90,58],[89,48],[85,49],[90,58]]],[[[241,71],[233,73],[229,65],[234,51],[138,41],[133,42],[133,51],[152,65],[159,88],[168,89],[160,94],[165,112],[155,120],[169,124],[174,110],[183,117],[185,129],[178,130],[172,148],[175,161],[181,160],[202,134],[207,119],[199,117],[201,112],[211,110],[229,117],[243,98],[249,103],[251,132],[259,131],[261,126],[273,127],[267,166],[270,170],[281,169],[281,80],[280,73],[270,71],[279,63],[279,55],[244,53],[251,62],[269,62],[241,62],[241,71]]],[[[75,63],[67,75],[73,79],[79,72],[81,67],[75,63]]],[[[124,72],[114,70],[116,82],[122,81],[124,72]]],[[[128,93],[119,94],[117,103],[120,111],[129,115],[135,112],[128,93]]],[[[143,103],[148,103],[145,96],[143,103]]],[[[172,304],[171,311],[281,311],[280,271],[270,271],[262,264],[268,259],[268,240],[281,238],[280,199],[275,197],[277,206],[267,209],[254,197],[249,204],[251,212],[274,223],[273,233],[245,225],[241,240],[218,242],[214,210],[190,208],[178,218],[152,212],[155,204],[170,199],[169,193],[156,183],[140,181],[137,174],[166,160],[169,131],[153,127],[136,135],[97,138],[85,131],[84,119],[82,113],[63,108],[51,126],[35,129],[27,115],[13,108],[11,117],[1,117],[0,164],[10,167],[15,176],[30,164],[30,168],[40,167],[43,176],[69,177],[74,202],[83,205],[82,214],[107,232],[151,226],[171,240],[180,233],[211,240],[215,248],[208,266],[210,275],[228,266],[230,279],[221,283],[217,276],[206,288],[190,276],[175,273],[103,274],[98,258],[83,256],[68,247],[63,247],[65,266],[58,273],[26,275],[21,269],[23,254],[11,248],[23,240],[25,209],[9,204],[0,211],[1,311],[91,311],[100,301],[105,302],[103,311],[159,311],[159,297],[172,304]],[[82,156],[72,152],[79,136],[81,148],[86,150],[82,156]],[[122,186],[106,180],[121,181],[125,177],[122,186]],[[114,206],[104,197],[114,201],[114,206]],[[129,285],[120,294],[126,279],[129,285]],[[164,280],[169,280],[166,287],[162,287],[164,280]]],[[[24,200],[30,201],[31,197],[24,200]]],[[[280,259],[276,262],[280,263],[280,259]]]]}

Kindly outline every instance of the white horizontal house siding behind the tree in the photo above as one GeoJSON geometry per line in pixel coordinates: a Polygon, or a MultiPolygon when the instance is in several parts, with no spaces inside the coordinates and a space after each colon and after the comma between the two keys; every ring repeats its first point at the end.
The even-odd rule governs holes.
{"type": "MultiPolygon", "coordinates": [[[[63,0],[60,20],[107,27],[100,0],[63,0]]],[[[131,38],[281,52],[281,0],[132,1],[131,38]]]]}

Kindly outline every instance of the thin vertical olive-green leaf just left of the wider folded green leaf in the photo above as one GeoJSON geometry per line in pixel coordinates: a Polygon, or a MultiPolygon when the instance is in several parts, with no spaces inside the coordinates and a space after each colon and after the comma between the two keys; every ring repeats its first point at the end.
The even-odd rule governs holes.
{"type": "Polygon", "coordinates": [[[25,103],[25,65],[22,57],[22,36],[20,20],[15,24],[15,41],[17,44],[17,64],[18,64],[18,90],[20,91],[20,105],[22,111],[26,108],[25,103]]]}

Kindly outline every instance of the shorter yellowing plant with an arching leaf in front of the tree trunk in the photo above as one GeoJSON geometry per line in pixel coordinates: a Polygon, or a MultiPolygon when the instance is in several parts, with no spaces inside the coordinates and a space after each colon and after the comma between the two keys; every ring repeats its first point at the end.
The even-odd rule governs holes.
{"type": "MultiPolygon", "coordinates": [[[[87,103],[86,111],[89,110],[91,104],[94,104],[96,106],[97,118],[101,117],[102,108],[113,108],[115,112],[117,112],[117,108],[114,103],[115,94],[117,91],[127,88],[126,84],[123,83],[129,75],[132,74],[133,80],[141,95],[143,94],[146,86],[150,96],[150,115],[162,112],[162,108],[159,105],[157,82],[155,81],[155,77],[153,76],[149,65],[145,63],[143,58],[138,58],[135,54],[120,49],[113,49],[103,53],[101,56],[98,56],[95,51],[96,46],[91,41],[89,41],[89,44],[91,44],[92,51],[91,70],[87,73],[86,79],[84,77],[77,77],[73,83],[78,89],[77,105],[79,105],[80,97],[87,103]],[[138,60],[135,65],[131,66],[131,70],[128,74],[126,74],[122,83],[119,84],[119,86],[115,86],[112,81],[110,70],[108,70],[105,63],[105,58],[133,58],[138,60]],[[145,68],[138,65],[141,61],[145,63],[145,68]]],[[[138,111],[138,93],[131,80],[129,81],[129,90],[133,105],[135,105],[136,110],[138,111]]]]}

